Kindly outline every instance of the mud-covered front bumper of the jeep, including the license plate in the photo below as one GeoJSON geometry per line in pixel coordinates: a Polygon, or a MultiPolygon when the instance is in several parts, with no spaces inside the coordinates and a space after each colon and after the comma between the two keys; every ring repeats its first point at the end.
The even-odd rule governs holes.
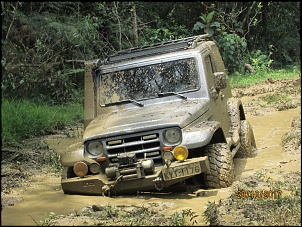
{"type": "Polygon", "coordinates": [[[105,174],[85,177],[62,178],[61,185],[66,194],[103,195],[135,194],[137,192],[164,191],[168,187],[209,170],[208,157],[173,162],[169,167],[155,167],[152,175],[139,178],[121,176],[115,180],[105,174]]]}

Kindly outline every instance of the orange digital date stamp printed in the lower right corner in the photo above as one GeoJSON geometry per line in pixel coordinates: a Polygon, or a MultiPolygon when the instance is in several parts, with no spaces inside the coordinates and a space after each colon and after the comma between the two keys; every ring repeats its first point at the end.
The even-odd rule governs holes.
{"type": "Polygon", "coordinates": [[[282,195],[281,190],[237,190],[237,199],[280,199],[282,195]]]}

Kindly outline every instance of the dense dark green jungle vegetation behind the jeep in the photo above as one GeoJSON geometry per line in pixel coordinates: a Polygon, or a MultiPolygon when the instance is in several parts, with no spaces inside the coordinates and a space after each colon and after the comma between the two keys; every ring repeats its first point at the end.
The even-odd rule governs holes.
{"type": "Polygon", "coordinates": [[[300,2],[1,1],[1,14],[1,93],[8,109],[24,100],[34,103],[25,110],[80,108],[84,61],[204,33],[219,44],[230,77],[300,68],[300,2]]]}

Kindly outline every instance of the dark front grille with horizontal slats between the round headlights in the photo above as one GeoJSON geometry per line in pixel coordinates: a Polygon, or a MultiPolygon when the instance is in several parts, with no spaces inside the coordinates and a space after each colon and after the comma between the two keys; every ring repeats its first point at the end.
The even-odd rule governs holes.
{"type": "Polygon", "coordinates": [[[132,135],[124,138],[106,141],[106,150],[111,163],[117,163],[117,156],[132,153],[140,159],[153,159],[154,163],[161,162],[161,146],[158,133],[132,135]]]}

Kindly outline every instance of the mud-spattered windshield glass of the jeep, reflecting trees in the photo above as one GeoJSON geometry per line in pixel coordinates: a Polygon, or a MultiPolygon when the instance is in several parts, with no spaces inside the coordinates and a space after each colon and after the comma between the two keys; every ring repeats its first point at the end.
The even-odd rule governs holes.
{"type": "Polygon", "coordinates": [[[194,58],[125,69],[100,76],[101,105],[123,100],[159,97],[159,93],[196,90],[199,87],[194,58]]]}

